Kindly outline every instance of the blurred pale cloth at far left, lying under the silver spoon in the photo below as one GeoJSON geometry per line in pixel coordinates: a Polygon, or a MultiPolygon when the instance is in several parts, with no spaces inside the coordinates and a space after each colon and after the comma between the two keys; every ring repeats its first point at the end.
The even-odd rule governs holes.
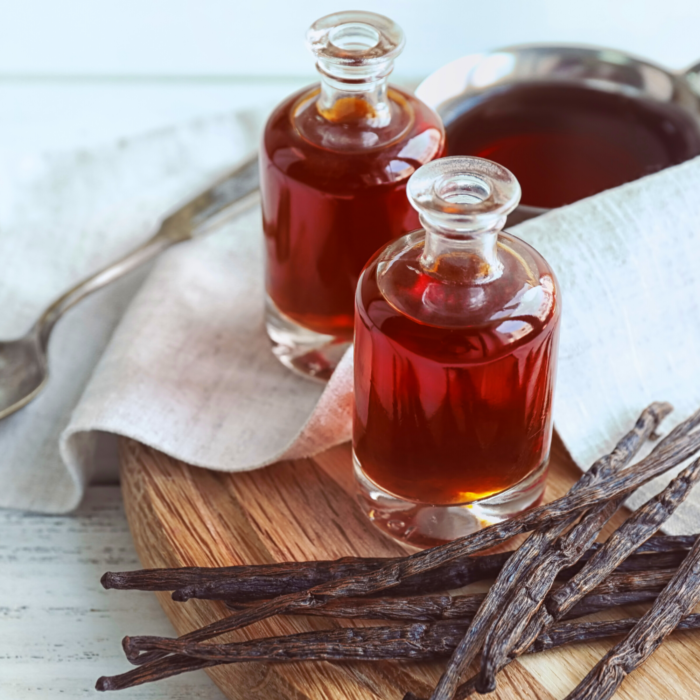
{"type": "MultiPolygon", "coordinates": [[[[0,339],[23,335],[55,297],[147,239],[164,213],[252,153],[263,107],[86,152],[20,155],[2,144],[0,339]]],[[[81,459],[64,461],[59,437],[143,278],[139,271],[101,290],[57,325],[48,386],[0,421],[0,506],[78,505],[98,441],[76,438],[85,442],[81,459]]]]}

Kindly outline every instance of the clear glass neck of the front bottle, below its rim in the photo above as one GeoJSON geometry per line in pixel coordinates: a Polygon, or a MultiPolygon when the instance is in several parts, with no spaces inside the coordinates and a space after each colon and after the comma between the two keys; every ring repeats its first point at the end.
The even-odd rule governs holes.
{"type": "Polygon", "coordinates": [[[503,274],[498,257],[498,234],[504,221],[469,231],[446,230],[420,216],[425,229],[425,247],[420,264],[435,277],[456,283],[485,284],[503,274]]]}

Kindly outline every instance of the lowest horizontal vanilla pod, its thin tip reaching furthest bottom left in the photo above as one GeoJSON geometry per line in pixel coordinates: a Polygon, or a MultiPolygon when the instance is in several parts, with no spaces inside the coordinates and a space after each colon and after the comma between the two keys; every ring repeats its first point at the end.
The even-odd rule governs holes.
{"type": "MultiPolygon", "coordinates": [[[[612,622],[559,623],[547,630],[528,653],[626,634],[638,621],[632,618],[612,622]]],[[[698,628],[700,615],[689,615],[677,626],[679,630],[698,628]]],[[[245,661],[431,660],[447,656],[465,629],[466,623],[438,622],[304,632],[228,645],[197,644],[192,645],[194,651],[203,648],[204,654],[218,658],[167,656],[148,667],[140,666],[117,676],[103,676],[97,681],[96,688],[101,691],[124,690],[187,671],[245,661]]]]}

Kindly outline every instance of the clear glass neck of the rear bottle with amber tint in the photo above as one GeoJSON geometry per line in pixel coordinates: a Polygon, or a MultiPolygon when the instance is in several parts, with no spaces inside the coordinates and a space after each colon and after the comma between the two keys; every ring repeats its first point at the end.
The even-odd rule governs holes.
{"type": "Polygon", "coordinates": [[[330,75],[320,66],[319,72],[321,94],[316,106],[324,119],[332,123],[352,122],[375,129],[389,125],[388,75],[391,67],[383,75],[362,80],[352,74],[347,78],[330,75]]]}

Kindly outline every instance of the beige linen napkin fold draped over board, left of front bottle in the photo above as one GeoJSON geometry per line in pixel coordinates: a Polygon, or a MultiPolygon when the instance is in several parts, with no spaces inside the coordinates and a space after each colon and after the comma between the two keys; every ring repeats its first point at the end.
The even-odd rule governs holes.
{"type": "Polygon", "coordinates": [[[350,435],[351,356],[325,390],[272,355],[260,210],[170,250],[135,298],[61,439],[84,469],[94,430],[196,466],[245,471],[350,435]]]}

